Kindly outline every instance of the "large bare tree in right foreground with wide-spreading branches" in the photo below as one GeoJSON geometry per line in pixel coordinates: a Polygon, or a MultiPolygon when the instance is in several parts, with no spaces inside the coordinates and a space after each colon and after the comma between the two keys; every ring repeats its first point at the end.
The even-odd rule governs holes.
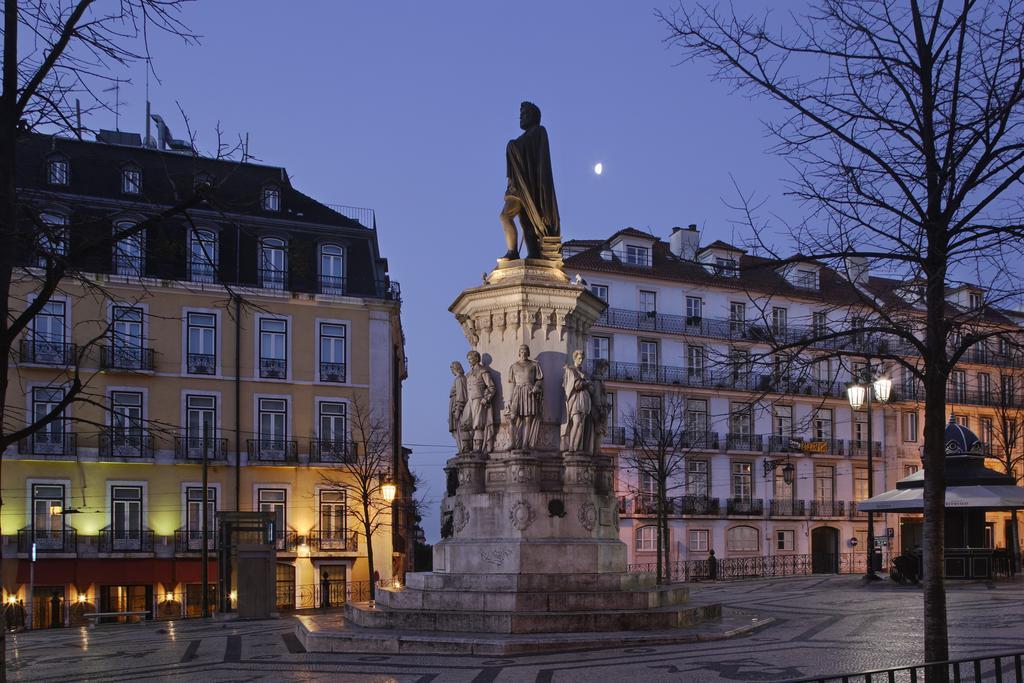
{"type": "MultiPolygon", "coordinates": [[[[985,282],[990,303],[1020,299],[1024,249],[1024,25],[1017,0],[816,0],[784,26],[705,4],[662,14],[684,59],[785,112],[768,125],[808,208],[790,227],[804,256],[847,269],[871,258],[916,285],[913,325],[865,293],[860,334],[884,334],[925,402],[925,657],[948,658],[943,583],[946,381],[998,334],[950,310],[947,295],[985,282]],[[908,355],[920,358],[907,364],[908,355]]],[[[904,314],[905,313],[901,313],[904,314]]],[[[849,329],[837,333],[850,335],[849,329]]],[[[930,672],[929,680],[947,674],[930,672]]]]}

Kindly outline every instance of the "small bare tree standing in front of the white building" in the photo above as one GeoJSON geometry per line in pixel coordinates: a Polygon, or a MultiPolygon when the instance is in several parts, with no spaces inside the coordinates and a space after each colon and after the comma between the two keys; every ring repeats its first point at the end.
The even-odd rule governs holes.
{"type": "Polygon", "coordinates": [[[687,430],[686,399],[678,393],[658,396],[657,405],[640,405],[624,419],[631,444],[620,458],[625,468],[637,476],[636,483],[630,485],[630,493],[639,502],[634,511],[654,514],[655,577],[657,583],[668,583],[672,579],[669,533],[672,494],[683,485],[687,455],[694,446],[709,446],[705,442],[708,432],[687,430]]]}

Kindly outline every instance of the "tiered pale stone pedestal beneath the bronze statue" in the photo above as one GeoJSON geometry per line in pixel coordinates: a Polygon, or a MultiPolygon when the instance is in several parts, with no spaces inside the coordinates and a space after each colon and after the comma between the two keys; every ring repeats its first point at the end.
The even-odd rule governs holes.
{"type": "Polygon", "coordinates": [[[483,285],[459,295],[451,311],[497,389],[495,447],[447,462],[434,570],[379,590],[373,607],[346,606],[351,623],[579,633],[683,627],[720,614],[718,605],[687,605],[685,588],[626,573],[611,458],[562,447],[564,368],[603,309],[545,261],[500,262],[483,285]],[[534,447],[511,450],[505,395],[521,344],[543,369],[544,410],[534,447]]]}

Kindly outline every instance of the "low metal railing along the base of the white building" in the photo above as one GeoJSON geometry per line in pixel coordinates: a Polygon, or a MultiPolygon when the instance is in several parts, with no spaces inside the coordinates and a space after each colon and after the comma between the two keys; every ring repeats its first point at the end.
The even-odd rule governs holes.
{"type": "MultiPolygon", "coordinates": [[[[772,577],[805,577],[812,573],[863,573],[867,570],[867,555],[814,553],[809,555],[765,555],[760,557],[716,558],[713,572],[709,560],[683,560],[669,563],[669,577],[675,582],[731,581],[772,577]]],[[[883,566],[888,561],[883,556],[883,566]]],[[[632,573],[655,573],[654,562],[630,564],[632,573]]]]}

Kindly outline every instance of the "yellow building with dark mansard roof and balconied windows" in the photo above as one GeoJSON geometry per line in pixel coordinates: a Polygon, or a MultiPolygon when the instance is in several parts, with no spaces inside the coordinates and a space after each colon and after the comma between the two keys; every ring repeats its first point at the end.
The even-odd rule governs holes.
{"type": "Polygon", "coordinates": [[[404,463],[400,297],[372,212],[317,203],[283,168],[170,143],[18,143],[19,202],[49,231],[11,308],[42,291],[48,261],[68,271],[10,359],[6,432],[83,383],[3,460],[4,601],[36,627],[198,612],[204,456],[211,513],[274,513],[282,608],[325,588],[335,604],[365,595],[406,564],[392,538],[410,533],[385,515],[369,566],[345,487],[367,447],[353,416],[383,430],[375,476],[400,481],[404,463]],[[201,186],[206,201],[112,240],[201,186]]]}

